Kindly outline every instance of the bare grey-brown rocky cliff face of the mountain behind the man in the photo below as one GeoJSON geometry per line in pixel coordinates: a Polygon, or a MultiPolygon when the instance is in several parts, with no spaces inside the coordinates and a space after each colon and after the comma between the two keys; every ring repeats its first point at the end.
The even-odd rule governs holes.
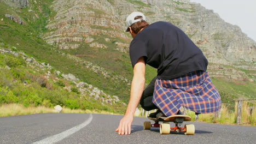
{"type": "Polygon", "coordinates": [[[51,7],[57,14],[46,26],[50,32],[45,33],[43,39],[60,49],[77,49],[87,43],[96,49],[127,53],[131,37],[124,33],[125,18],[132,11],[142,11],[150,23],[168,21],[183,29],[212,63],[212,75],[253,81],[236,68],[256,69],[255,41],[242,33],[238,26],[226,23],[200,4],[189,1],[57,0],[51,7]],[[105,39],[100,41],[94,38],[95,35],[102,35],[105,39]],[[109,40],[115,41],[115,47],[107,46],[109,40]],[[230,69],[223,68],[223,65],[236,65],[235,71],[230,73],[230,69]]]}

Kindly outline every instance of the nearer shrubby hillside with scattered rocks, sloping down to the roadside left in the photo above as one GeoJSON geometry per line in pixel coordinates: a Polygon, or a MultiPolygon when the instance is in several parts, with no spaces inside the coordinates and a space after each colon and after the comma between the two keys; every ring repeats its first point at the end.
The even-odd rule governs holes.
{"type": "Polygon", "coordinates": [[[124,111],[125,104],[117,96],[110,96],[71,74],[62,74],[49,64],[37,62],[25,53],[17,52],[16,47],[0,43],[0,52],[1,104],[124,111]]]}

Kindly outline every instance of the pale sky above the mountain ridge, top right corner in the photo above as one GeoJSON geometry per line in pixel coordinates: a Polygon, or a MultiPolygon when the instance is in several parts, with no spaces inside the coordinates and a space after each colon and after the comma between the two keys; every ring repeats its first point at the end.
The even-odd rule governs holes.
{"type": "Polygon", "coordinates": [[[256,0],[190,0],[212,9],[225,22],[237,25],[256,41],[256,0]]]}

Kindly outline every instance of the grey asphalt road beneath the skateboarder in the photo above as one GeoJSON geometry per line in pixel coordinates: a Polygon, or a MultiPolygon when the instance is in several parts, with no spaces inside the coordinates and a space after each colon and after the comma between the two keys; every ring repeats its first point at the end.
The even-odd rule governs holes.
{"type": "Polygon", "coordinates": [[[118,135],[115,129],[122,117],[87,113],[0,117],[0,143],[256,143],[256,127],[184,122],[195,125],[195,135],[160,135],[159,128],[143,130],[143,122],[150,120],[142,117],[134,118],[131,135],[118,135]]]}

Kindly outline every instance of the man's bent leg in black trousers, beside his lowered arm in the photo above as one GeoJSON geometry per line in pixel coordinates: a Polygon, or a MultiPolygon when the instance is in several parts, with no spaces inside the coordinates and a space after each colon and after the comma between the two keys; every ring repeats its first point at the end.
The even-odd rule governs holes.
{"type": "Polygon", "coordinates": [[[141,100],[139,101],[139,104],[141,104],[142,108],[146,111],[158,109],[153,103],[153,95],[154,95],[154,89],[155,89],[155,81],[156,77],[152,79],[149,83],[149,85],[144,89],[142,93],[141,100]]]}

